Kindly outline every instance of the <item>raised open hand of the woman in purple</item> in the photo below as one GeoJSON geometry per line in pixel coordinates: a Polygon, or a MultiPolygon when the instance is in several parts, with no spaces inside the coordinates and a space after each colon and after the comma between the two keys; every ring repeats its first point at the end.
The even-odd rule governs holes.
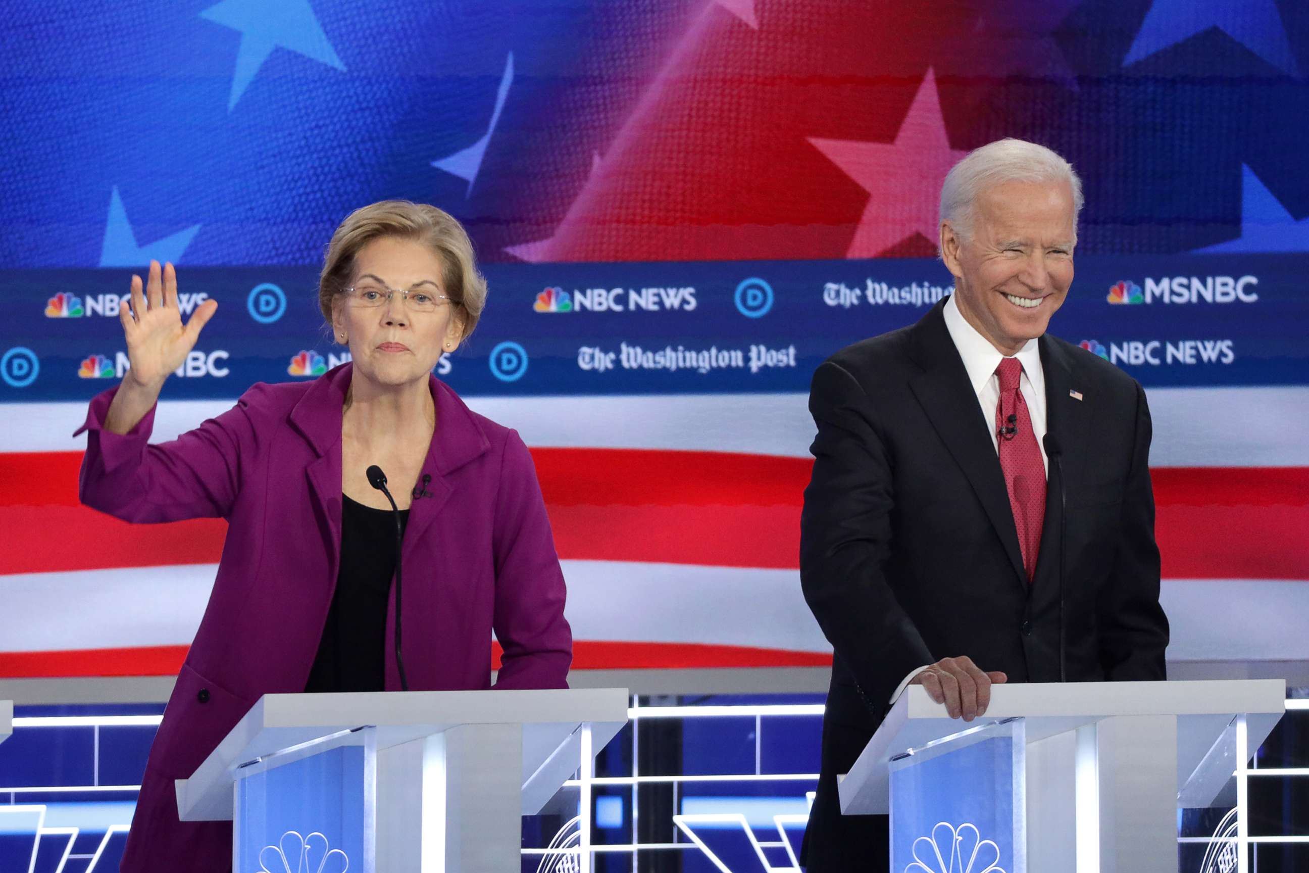
{"type": "Polygon", "coordinates": [[[200,330],[217,308],[219,301],[206,300],[182,325],[182,313],[177,308],[177,270],[171,263],[160,270],[160,263],[152,260],[145,293],[141,293],[141,277],[134,275],[132,306],[118,310],[127,336],[127,360],[131,363],[131,369],[123,378],[143,387],[157,389],[169,373],[186,361],[200,330]]]}

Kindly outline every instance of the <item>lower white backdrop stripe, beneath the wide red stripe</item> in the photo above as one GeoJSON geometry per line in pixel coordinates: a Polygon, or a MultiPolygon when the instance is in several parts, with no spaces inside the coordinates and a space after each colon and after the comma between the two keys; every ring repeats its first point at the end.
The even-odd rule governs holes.
{"type": "MultiPolygon", "coordinates": [[[[215,568],[0,576],[0,650],[186,645],[215,568]]],[[[590,560],[563,568],[577,640],[829,650],[797,571],[590,560]]],[[[1309,581],[1165,580],[1161,602],[1170,661],[1309,660],[1309,581]]]]}

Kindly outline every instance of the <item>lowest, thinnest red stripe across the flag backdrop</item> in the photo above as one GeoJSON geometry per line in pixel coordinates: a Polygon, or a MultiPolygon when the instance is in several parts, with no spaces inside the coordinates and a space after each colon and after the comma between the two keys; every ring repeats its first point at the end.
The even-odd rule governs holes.
{"type": "MultiPolygon", "coordinates": [[[[62,652],[0,652],[0,679],[118,675],[177,675],[186,645],[62,652]]],[[[573,644],[575,670],[692,668],[831,666],[831,654],[690,643],[573,644]]],[[[500,669],[500,645],[492,644],[490,669],[500,669]]]]}

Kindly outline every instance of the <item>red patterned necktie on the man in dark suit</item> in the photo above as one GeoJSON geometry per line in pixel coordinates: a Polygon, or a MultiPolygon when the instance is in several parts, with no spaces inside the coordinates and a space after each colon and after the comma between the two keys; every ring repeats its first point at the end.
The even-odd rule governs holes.
{"type": "Polygon", "coordinates": [[[1041,446],[1031,429],[1031,415],[1018,391],[1022,364],[1017,357],[1005,357],[995,368],[1000,377],[1000,403],[995,408],[995,428],[1000,446],[1000,469],[1009,491],[1013,525],[1018,529],[1018,548],[1022,567],[1030,582],[1037,572],[1037,552],[1041,550],[1041,527],[1046,517],[1046,469],[1041,461],[1041,446]]]}

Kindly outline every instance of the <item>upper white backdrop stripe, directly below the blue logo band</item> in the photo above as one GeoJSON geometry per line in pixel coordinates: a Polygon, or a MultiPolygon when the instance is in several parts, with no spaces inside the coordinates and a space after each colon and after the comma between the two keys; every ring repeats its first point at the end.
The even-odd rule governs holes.
{"type": "MultiPolygon", "coordinates": [[[[1168,387],[1148,393],[1158,467],[1309,466],[1309,387],[1168,387]]],[[[1088,398],[1089,399],[1089,398],[1088,398]]],[[[809,457],[805,394],[478,397],[469,406],[542,448],[673,449],[809,457]]],[[[154,441],[171,440],[233,401],[168,401],[154,441]]],[[[80,452],[69,436],[85,403],[0,404],[0,452],[80,452]]]]}

